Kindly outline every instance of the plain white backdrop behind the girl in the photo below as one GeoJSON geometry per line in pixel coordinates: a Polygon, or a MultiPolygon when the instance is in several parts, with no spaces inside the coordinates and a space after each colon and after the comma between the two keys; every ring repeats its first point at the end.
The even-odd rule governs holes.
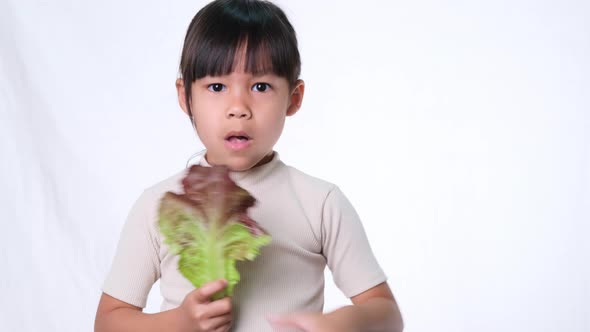
{"type": "MultiPolygon", "coordinates": [[[[92,331],[132,202],[201,148],[204,3],[0,2],[2,331],[92,331]]],[[[278,3],[307,90],[276,148],[349,196],[406,331],[590,331],[589,3],[278,3]]]]}

